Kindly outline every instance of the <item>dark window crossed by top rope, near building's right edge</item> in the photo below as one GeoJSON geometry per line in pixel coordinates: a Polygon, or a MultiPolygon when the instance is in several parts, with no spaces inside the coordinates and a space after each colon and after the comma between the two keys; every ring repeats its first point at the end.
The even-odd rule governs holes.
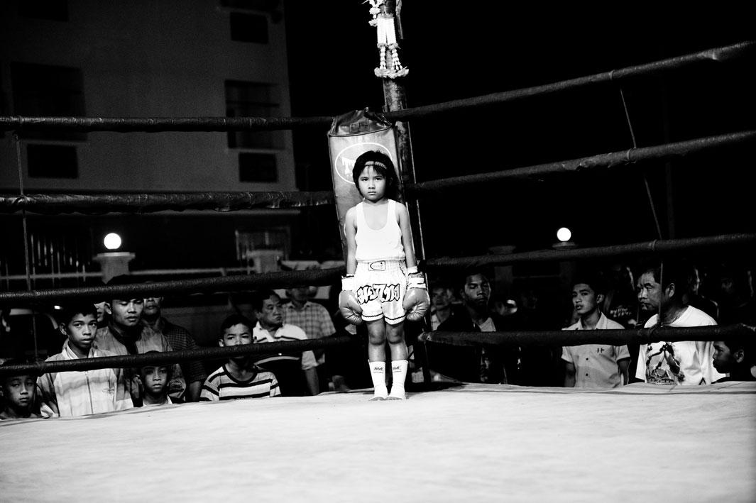
{"type": "MultiPolygon", "coordinates": [[[[277,117],[280,115],[276,85],[258,82],[226,81],[227,117],[277,117]]],[[[228,147],[282,149],[281,131],[229,131],[228,147]]]]}

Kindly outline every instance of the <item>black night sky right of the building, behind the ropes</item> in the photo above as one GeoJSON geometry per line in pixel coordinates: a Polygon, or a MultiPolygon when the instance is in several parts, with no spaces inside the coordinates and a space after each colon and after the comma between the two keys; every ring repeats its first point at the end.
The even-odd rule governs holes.
{"type": "MultiPolygon", "coordinates": [[[[336,116],[365,106],[380,110],[383,91],[373,76],[378,53],[368,5],[284,6],[293,116],[336,116]]],[[[404,79],[407,105],[542,85],[754,39],[745,26],[750,17],[733,9],[673,15],[625,7],[550,11],[541,4],[404,2],[400,55],[410,68],[404,79]]],[[[748,71],[753,66],[751,53],[624,83],[638,146],[756,128],[756,80],[748,71]]],[[[294,134],[299,187],[329,189],[325,134],[294,134]]],[[[632,147],[618,87],[609,85],[418,120],[411,134],[419,181],[632,147]]],[[[672,214],[661,162],[424,199],[428,256],[484,253],[491,245],[547,248],[562,225],[573,229],[580,245],[655,239],[644,171],[663,237],[753,232],[756,212],[745,183],[752,151],[751,145],[672,162],[672,214]],[[671,216],[674,227],[668,225],[671,216]]]]}

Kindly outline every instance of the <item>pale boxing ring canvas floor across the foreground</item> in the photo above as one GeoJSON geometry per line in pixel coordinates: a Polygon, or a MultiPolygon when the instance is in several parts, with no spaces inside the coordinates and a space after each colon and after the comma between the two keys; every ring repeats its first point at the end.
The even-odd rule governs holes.
{"type": "Polygon", "coordinates": [[[756,498],[756,383],[371,393],[2,421],[0,500],[756,498]]]}

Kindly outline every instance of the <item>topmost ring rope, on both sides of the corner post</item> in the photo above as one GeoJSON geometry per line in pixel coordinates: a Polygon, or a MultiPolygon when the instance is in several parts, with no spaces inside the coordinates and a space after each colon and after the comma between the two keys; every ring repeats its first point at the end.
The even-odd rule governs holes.
{"type": "MultiPolygon", "coordinates": [[[[559,91],[581,88],[589,85],[618,82],[625,79],[649,76],[661,71],[682,69],[693,63],[705,61],[725,61],[743,57],[756,48],[756,42],[739,42],[720,48],[711,48],[683,56],[671,57],[637,66],[613,69],[547,85],[503,91],[479,97],[451,100],[426,106],[416,106],[403,110],[386,112],[389,121],[420,119],[439,113],[466,110],[479,106],[522,100],[528,97],[554,94],[559,91]]],[[[104,118],[104,117],[22,117],[0,116],[0,131],[21,129],[57,129],[75,131],[271,131],[300,127],[322,127],[330,125],[333,117],[309,118],[260,118],[260,117],[146,117],[146,118],[104,118]]]]}

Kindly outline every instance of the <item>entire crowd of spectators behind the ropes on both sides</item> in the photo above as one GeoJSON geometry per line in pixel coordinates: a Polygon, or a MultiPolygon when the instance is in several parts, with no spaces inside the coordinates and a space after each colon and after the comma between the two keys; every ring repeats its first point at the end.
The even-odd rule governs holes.
{"type": "MultiPolygon", "coordinates": [[[[108,285],[133,282],[116,276],[108,285]]],[[[533,282],[493,292],[487,270],[429,278],[429,326],[407,327],[410,386],[423,372],[432,381],[520,386],[620,387],[632,382],[700,385],[756,380],[756,350],[747,338],[658,341],[652,344],[550,343],[522,347],[418,343],[423,331],[525,332],[756,325],[756,297],[748,267],[703,269],[665,261],[661,267],[626,265],[576,273],[562,289],[562,305],[543,302],[533,282]],[[555,309],[556,306],[556,309],[555,309]],[[411,353],[413,351],[411,350],[411,353]],[[424,368],[425,367],[425,368],[424,368]]],[[[364,335],[339,314],[332,295],[314,289],[254,292],[249,316],[230,313],[213,340],[220,347],[301,341],[347,333],[364,335]]],[[[40,313],[4,307],[0,363],[75,360],[199,349],[191,333],[163,316],[162,297],[111,295],[67,302],[40,313]],[[119,298],[119,297],[134,298],[119,298]],[[30,334],[35,333],[36,337],[30,334]]],[[[182,361],[135,369],[50,372],[0,378],[0,418],[88,415],[132,407],[195,401],[308,396],[370,387],[364,341],[327,350],[231,356],[225,363],[182,361]],[[218,365],[220,365],[218,367],[218,365]],[[96,390],[92,393],[91,390],[96,390]]]]}

